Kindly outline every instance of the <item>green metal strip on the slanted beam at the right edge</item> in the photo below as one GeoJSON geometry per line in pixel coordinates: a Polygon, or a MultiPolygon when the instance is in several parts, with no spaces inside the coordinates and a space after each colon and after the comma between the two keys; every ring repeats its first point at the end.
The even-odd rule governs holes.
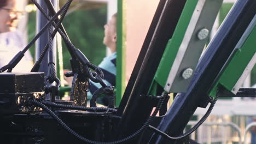
{"type": "MultiPolygon", "coordinates": [[[[256,19],[256,17],[254,17],[256,19]]],[[[229,61],[225,64],[225,67],[220,72],[218,79],[214,82],[212,90],[209,92],[209,96],[216,97],[218,88],[220,86],[224,87],[227,91],[237,91],[234,89],[238,79],[245,71],[248,63],[251,61],[255,55],[256,49],[253,49],[256,45],[256,24],[250,34],[246,35],[246,40],[242,45],[237,45],[236,49],[233,51],[229,58],[229,61]]],[[[243,39],[241,39],[243,40],[243,39]]],[[[236,93],[234,93],[236,94],[236,93]]]]}

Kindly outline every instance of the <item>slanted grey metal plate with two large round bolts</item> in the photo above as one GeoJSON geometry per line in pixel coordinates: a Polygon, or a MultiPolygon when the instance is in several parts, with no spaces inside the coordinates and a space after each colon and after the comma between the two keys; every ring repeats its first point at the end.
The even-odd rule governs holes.
{"type": "Polygon", "coordinates": [[[185,92],[212,29],[222,0],[199,0],[165,85],[167,92],[185,92]]]}

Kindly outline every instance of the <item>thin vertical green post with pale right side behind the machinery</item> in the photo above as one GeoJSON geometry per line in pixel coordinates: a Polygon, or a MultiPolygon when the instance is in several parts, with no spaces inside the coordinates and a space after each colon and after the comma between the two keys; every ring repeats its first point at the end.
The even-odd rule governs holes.
{"type": "Polygon", "coordinates": [[[126,0],[118,0],[118,41],[117,41],[117,79],[115,105],[119,106],[125,91],[125,41],[126,41],[126,0]]]}

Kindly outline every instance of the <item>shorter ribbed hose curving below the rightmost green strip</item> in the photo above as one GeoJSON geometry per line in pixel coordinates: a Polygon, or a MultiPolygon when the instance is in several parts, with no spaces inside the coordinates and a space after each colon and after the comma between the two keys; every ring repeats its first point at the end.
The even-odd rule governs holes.
{"type": "Polygon", "coordinates": [[[212,109],[214,107],[214,105],[216,104],[216,101],[218,100],[218,95],[217,97],[212,101],[209,109],[207,110],[207,112],[205,113],[205,115],[200,119],[199,122],[197,122],[193,128],[191,128],[189,131],[187,131],[185,134],[180,135],[180,136],[169,136],[167,135],[164,131],[161,131],[155,127],[153,127],[152,125],[148,125],[148,128],[152,131],[154,131],[156,134],[159,134],[161,136],[166,137],[167,139],[171,139],[171,140],[179,140],[179,139],[183,139],[184,137],[190,135],[191,133],[193,133],[197,128],[200,127],[200,125],[205,122],[205,120],[207,119],[207,117],[210,115],[210,113],[212,112],[212,109]]]}

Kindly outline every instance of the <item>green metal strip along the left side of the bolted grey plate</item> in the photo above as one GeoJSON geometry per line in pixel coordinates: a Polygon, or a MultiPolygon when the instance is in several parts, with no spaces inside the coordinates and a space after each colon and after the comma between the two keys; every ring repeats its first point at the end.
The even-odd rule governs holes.
{"type": "Polygon", "coordinates": [[[187,1],[184,10],[179,18],[177,27],[173,33],[172,39],[170,39],[166,45],[164,55],[162,56],[161,62],[159,64],[158,70],[154,76],[152,86],[149,89],[150,95],[156,96],[156,87],[160,85],[165,87],[169,72],[171,70],[172,64],[176,58],[179,46],[182,43],[185,32],[189,26],[190,19],[195,10],[197,1],[187,1]]]}

